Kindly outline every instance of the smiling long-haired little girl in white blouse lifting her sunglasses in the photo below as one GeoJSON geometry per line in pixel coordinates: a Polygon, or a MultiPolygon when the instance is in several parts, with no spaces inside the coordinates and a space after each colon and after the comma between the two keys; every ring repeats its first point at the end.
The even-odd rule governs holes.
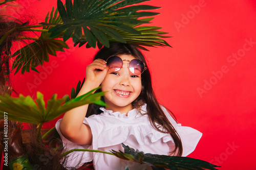
{"type": "MultiPolygon", "coordinates": [[[[93,149],[124,151],[121,143],[138,151],[187,156],[202,133],[177,124],[173,114],[159,105],[144,56],[133,44],[112,43],[102,47],[87,66],[79,95],[102,86],[107,107],[84,105],[65,113],[56,123],[65,151],[93,149]],[[172,116],[170,115],[172,114],[172,116]]],[[[79,167],[93,160],[95,169],[151,169],[95,152],[73,152],[66,166],[79,167]]]]}

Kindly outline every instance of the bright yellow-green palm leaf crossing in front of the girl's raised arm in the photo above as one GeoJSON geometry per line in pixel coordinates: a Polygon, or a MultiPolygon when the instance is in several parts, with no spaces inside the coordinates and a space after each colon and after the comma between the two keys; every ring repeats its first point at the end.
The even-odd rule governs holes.
{"type": "Polygon", "coordinates": [[[57,99],[57,94],[54,94],[50,100],[47,101],[47,106],[44,102],[44,96],[37,92],[37,99],[33,101],[31,96],[19,95],[18,98],[12,98],[10,95],[0,96],[0,118],[4,118],[4,112],[8,113],[8,119],[16,122],[31,123],[31,124],[44,124],[49,122],[61,114],[85,104],[96,103],[105,106],[100,101],[100,96],[104,92],[93,93],[89,91],[69,102],[63,104],[68,95],[57,99]]]}

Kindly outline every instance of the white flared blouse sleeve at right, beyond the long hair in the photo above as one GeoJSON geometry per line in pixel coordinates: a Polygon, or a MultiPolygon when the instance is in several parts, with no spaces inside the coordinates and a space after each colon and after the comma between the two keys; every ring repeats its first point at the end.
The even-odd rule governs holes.
{"type": "Polygon", "coordinates": [[[202,137],[202,133],[196,129],[181,126],[181,124],[177,124],[174,118],[169,114],[169,112],[162,106],[162,109],[168,118],[169,122],[173,125],[176,129],[177,133],[179,134],[182,142],[183,153],[182,156],[187,156],[192,153],[202,137]]]}

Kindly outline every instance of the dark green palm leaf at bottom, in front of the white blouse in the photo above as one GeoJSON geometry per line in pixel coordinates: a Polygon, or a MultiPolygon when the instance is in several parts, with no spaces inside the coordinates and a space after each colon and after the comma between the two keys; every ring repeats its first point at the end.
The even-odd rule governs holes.
{"type": "Polygon", "coordinates": [[[121,159],[151,165],[153,169],[217,170],[215,167],[219,167],[217,165],[199,159],[180,156],[144,154],[143,152],[139,152],[138,150],[135,151],[133,148],[130,148],[129,146],[124,145],[123,143],[122,146],[124,148],[124,152],[117,152],[114,150],[112,150],[111,152],[121,159]]]}

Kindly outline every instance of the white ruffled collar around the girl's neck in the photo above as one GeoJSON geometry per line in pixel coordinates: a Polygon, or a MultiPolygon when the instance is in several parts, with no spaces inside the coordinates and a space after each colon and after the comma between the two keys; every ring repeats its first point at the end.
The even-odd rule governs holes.
{"type": "MultiPolygon", "coordinates": [[[[100,110],[103,111],[102,113],[100,113],[100,115],[104,115],[104,116],[111,116],[111,117],[117,117],[117,118],[131,118],[131,117],[134,118],[137,115],[141,115],[141,113],[142,114],[146,113],[146,104],[141,106],[141,109],[140,109],[141,113],[139,112],[138,109],[133,109],[127,113],[127,116],[125,115],[125,113],[121,114],[121,112],[113,112],[112,110],[106,110],[104,107],[101,107],[100,110]]],[[[147,115],[147,114],[145,114],[145,115],[147,115]]]]}

